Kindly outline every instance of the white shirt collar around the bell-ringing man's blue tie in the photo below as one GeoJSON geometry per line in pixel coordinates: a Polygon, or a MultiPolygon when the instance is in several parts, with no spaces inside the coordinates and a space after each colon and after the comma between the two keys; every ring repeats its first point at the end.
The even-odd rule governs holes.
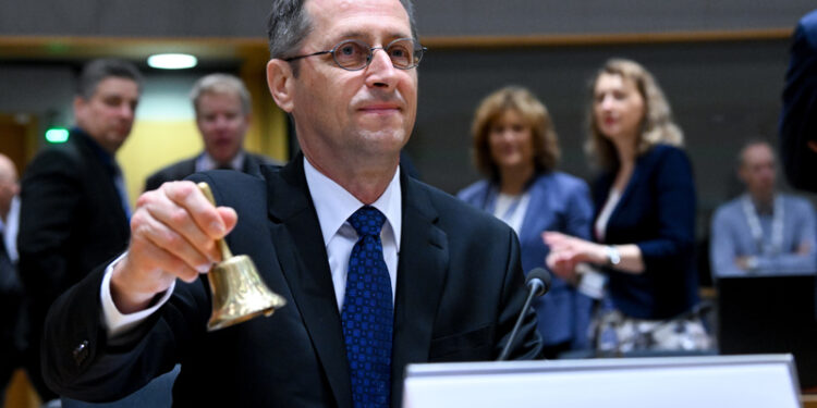
{"type": "MultiPolygon", "coordinates": [[[[343,226],[343,223],[364,203],[315,169],[309,160],[306,160],[306,157],[304,157],[304,174],[306,175],[306,185],[309,187],[312,201],[315,203],[315,211],[318,214],[320,232],[324,234],[324,245],[328,245],[338,230],[343,226]]],[[[386,215],[386,221],[391,225],[398,248],[400,248],[402,227],[401,205],[402,191],[400,190],[400,168],[398,166],[389,186],[386,187],[386,191],[371,203],[371,207],[386,215]]]]}

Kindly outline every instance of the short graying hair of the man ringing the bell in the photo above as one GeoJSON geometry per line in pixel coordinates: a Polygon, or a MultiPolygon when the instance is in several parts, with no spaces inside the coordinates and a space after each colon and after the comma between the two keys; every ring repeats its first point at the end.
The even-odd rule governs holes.
{"type": "MultiPolygon", "coordinates": [[[[269,37],[270,58],[286,58],[301,47],[301,42],[313,29],[308,13],[304,11],[305,0],[272,0],[272,11],[267,18],[267,36],[269,37]]],[[[412,27],[412,38],[418,41],[416,24],[414,22],[414,5],[412,0],[400,0],[412,27]]],[[[297,65],[293,65],[296,73],[297,65]]]]}

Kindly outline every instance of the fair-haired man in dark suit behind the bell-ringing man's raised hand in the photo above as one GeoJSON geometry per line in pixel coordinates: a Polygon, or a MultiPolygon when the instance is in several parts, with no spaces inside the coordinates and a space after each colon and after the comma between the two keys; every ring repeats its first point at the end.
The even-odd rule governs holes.
{"type": "Polygon", "coordinates": [[[183,180],[196,172],[227,169],[258,174],[260,165],[281,164],[268,157],[244,150],[244,137],[252,116],[249,91],[241,79],[228,74],[204,76],[193,85],[191,99],[204,151],[147,177],[145,191],[157,189],[166,182],[183,180]]]}

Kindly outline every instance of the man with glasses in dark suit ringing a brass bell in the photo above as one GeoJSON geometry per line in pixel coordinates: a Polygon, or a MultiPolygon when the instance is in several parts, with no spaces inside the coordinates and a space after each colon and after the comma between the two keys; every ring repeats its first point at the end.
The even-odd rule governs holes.
{"type": "MultiPolygon", "coordinates": [[[[190,182],[144,194],[126,255],[51,309],[42,353],[61,393],[117,398],[180,361],[176,406],[397,407],[407,363],[492,360],[508,343],[525,298],[515,235],[399,168],[423,54],[411,2],[272,10],[268,84],[303,153],[263,177],[193,177],[225,207],[190,182]],[[233,227],[286,306],[207,332],[200,273],[233,227]]],[[[540,356],[524,318],[514,359],[540,356]]]]}

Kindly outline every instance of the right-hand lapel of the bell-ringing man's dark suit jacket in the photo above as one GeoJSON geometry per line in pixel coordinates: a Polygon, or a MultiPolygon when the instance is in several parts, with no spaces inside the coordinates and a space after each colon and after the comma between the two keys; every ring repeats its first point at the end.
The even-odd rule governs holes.
{"type": "Polygon", "coordinates": [[[419,182],[401,171],[403,224],[394,302],[392,406],[399,407],[403,370],[428,360],[431,332],[448,269],[448,239],[419,182]]]}

